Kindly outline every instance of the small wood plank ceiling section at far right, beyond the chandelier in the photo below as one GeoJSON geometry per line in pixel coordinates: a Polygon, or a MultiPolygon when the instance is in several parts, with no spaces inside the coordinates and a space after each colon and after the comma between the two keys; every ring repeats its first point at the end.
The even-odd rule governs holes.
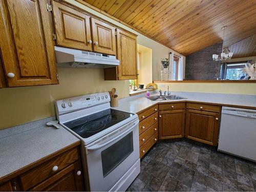
{"type": "Polygon", "coordinates": [[[256,56],[256,34],[229,46],[229,50],[233,53],[232,58],[256,56]]]}

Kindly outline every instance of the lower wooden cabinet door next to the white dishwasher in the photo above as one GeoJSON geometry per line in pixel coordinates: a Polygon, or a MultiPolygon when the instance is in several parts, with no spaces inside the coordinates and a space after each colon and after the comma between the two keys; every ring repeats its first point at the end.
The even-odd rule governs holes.
{"type": "Polygon", "coordinates": [[[188,109],[186,114],[186,138],[217,146],[219,118],[219,113],[188,109]]]}

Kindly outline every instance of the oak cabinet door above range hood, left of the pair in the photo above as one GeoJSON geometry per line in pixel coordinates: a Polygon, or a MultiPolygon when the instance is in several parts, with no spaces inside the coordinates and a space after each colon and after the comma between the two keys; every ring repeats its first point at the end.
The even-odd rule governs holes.
{"type": "Polygon", "coordinates": [[[92,51],[90,16],[53,1],[57,45],[92,51]]]}

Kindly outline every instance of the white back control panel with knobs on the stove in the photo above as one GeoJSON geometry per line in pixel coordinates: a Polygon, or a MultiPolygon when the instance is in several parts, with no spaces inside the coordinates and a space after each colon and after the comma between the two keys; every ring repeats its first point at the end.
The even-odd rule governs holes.
{"type": "Polygon", "coordinates": [[[55,108],[57,115],[59,115],[106,102],[110,102],[110,94],[108,92],[57,100],[55,102],[55,108]]]}

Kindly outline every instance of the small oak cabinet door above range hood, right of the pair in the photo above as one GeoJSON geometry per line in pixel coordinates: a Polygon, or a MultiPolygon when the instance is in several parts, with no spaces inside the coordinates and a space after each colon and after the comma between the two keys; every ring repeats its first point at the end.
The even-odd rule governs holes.
{"type": "Polygon", "coordinates": [[[93,34],[93,50],[99,53],[116,55],[116,28],[91,18],[93,34]]]}

